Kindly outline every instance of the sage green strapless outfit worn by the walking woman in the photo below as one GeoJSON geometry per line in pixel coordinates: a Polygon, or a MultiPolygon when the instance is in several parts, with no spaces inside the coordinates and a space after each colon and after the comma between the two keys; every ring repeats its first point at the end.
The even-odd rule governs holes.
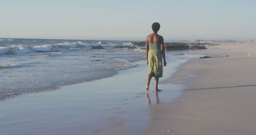
{"type": "Polygon", "coordinates": [[[163,77],[161,44],[149,43],[148,66],[149,75],[152,77],[163,77]]]}

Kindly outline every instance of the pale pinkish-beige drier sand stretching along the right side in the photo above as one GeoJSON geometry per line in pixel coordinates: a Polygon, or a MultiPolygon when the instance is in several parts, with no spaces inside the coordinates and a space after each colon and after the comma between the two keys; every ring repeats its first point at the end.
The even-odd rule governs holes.
{"type": "Polygon", "coordinates": [[[218,44],[192,53],[228,57],[191,59],[162,81],[187,91],[150,107],[144,135],[256,135],[256,43],[218,44]]]}

